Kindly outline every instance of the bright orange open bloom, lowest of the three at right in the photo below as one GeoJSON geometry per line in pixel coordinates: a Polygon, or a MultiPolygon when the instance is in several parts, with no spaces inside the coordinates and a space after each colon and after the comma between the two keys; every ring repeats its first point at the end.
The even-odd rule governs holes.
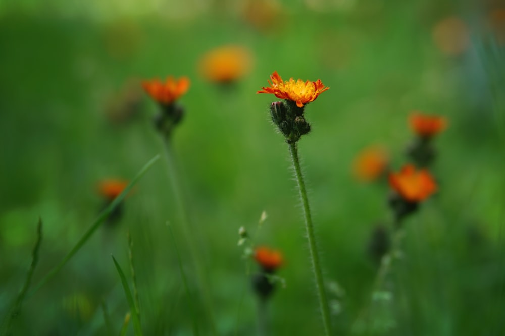
{"type": "Polygon", "coordinates": [[[411,203],[423,201],[437,190],[428,170],[416,171],[412,164],[403,166],[399,173],[389,174],[389,185],[411,203]]]}

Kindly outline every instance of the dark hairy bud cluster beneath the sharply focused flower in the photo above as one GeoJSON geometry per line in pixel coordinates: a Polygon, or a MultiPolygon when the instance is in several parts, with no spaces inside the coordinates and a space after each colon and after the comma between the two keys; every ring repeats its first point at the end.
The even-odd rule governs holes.
{"type": "Polygon", "coordinates": [[[310,124],[304,118],[304,107],[298,107],[291,101],[274,101],[270,105],[272,121],[289,144],[297,142],[311,130],[310,124]]]}

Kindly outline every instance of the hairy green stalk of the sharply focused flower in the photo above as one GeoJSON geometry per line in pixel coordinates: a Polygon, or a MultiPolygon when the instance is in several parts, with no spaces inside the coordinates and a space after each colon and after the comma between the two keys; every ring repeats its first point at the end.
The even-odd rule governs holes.
{"type": "Polygon", "coordinates": [[[316,279],[316,288],[319,297],[319,306],[323,317],[323,325],[325,335],[330,335],[330,310],[328,307],[328,298],[323,281],[323,272],[321,271],[321,263],[319,261],[319,254],[317,250],[316,237],[314,235],[314,225],[312,223],[311,210],[309,207],[309,199],[307,197],[307,190],[305,189],[304,177],[301,174],[300,160],[298,158],[298,147],[296,143],[289,144],[289,151],[291,159],[293,160],[293,167],[296,173],[296,181],[298,182],[298,190],[300,192],[301,202],[304,206],[305,215],[305,228],[307,230],[307,239],[309,240],[309,251],[312,261],[312,270],[316,279]]]}

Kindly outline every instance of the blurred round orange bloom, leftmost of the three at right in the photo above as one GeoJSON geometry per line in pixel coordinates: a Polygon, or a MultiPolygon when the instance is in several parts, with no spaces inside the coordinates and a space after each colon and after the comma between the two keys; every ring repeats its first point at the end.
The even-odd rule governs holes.
{"type": "Polygon", "coordinates": [[[362,151],[354,161],[353,171],[362,181],[373,181],[384,174],[389,163],[386,150],[373,146],[362,151]]]}

